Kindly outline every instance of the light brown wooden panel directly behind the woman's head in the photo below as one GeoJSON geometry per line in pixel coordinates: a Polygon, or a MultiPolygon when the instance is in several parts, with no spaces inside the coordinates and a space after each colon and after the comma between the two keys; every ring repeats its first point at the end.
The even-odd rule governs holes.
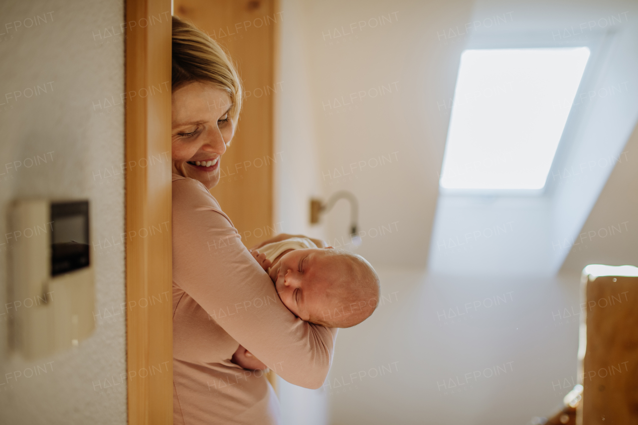
{"type": "Polygon", "coordinates": [[[221,179],[211,190],[223,211],[252,246],[274,232],[272,172],[283,154],[272,152],[277,23],[274,0],[175,0],[175,15],[191,20],[226,49],[237,64],[246,98],[232,144],[221,158],[221,179]]]}

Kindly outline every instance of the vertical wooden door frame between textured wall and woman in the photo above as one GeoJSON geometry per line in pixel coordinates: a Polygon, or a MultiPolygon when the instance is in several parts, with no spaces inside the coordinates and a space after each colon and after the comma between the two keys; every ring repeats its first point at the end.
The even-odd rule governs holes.
{"type": "Polygon", "coordinates": [[[173,423],[170,0],[126,2],[128,423],[173,423]]]}

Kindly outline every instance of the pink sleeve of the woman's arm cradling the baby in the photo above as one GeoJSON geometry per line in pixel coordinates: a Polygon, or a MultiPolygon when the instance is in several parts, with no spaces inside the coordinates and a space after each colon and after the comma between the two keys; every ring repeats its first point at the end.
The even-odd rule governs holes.
{"type": "Polygon", "coordinates": [[[290,313],[203,184],[174,181],[172,209],[175,285],[280,377],[321,387],[332,363],[336,329],[290,313]]]}

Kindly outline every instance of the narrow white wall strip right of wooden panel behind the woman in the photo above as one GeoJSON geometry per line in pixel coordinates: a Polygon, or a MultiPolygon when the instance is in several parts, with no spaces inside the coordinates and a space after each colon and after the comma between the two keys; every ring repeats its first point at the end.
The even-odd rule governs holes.
{"type": "MultiPolygon", "coordinates": [[[[280,2],[279,57],[276,81],[283,91],[275,100],[274,152],[283,161],[274,174],[274,217],[278,230],[324,238],[322,226],[309,224],[309,200],[321,197],[318,142],[311,114],[309,52],[304,22],[307,10],[293,0],[280,2]],[[281,227],[279,227],[281,226],[281,227]]],[[[279,401],[286,425],[327,424],[327,397],[279,378],[279,401]]]]}

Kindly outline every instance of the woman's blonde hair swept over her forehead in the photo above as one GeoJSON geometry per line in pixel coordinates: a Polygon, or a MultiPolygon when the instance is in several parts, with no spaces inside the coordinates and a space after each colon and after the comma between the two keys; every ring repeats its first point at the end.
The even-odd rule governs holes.
{"type": "Polygon", "coordinates": [[[232,106],[228,115],[237,125],[242,86],[237,70],[219,44],[191,22],[173,17],[172,91],[191,82],[225,90],[232,106]]]}

